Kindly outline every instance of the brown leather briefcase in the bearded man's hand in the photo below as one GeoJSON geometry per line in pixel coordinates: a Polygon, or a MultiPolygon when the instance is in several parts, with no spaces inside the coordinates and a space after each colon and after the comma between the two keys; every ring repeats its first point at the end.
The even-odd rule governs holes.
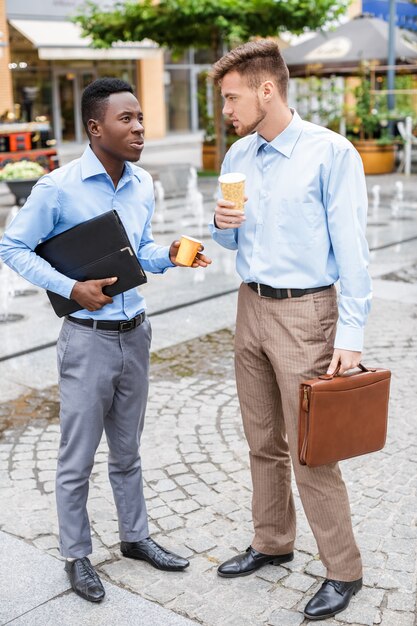
{"type": "Polygon", "coordinates": [[[391,372],[324,374],[300,385],[298,455],[317,467],[381,450],[385,445],[391,372]]]}

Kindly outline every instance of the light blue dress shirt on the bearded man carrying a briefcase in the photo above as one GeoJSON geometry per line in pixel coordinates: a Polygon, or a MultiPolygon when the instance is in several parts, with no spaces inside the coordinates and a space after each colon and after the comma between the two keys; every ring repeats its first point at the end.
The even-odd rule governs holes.
{"type": "Polygon", "coordinates": [[[237,250],[244,282],[308,289],[340,279],[335,348],[361,351],[371,302],[365,239],[368,198],[352,144],[326,128],[293,119],[271,142],[254,133],[234,143],[222,173],[246,174],[246,221],[220,230],[237,250]]]}

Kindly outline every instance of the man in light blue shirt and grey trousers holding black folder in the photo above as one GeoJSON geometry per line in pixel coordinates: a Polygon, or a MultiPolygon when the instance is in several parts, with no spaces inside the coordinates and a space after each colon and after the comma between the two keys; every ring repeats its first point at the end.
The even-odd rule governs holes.
{"type": "MultiPolygon", "coordinates": [[[[154,243],[150,175],[131,163],[143,150],[143,115],[132,87],[101,78],[82,96],[90,145],[80,159],[44,176],[7,229],[0,256],[36,285],[76,300],[83,309],[65,319],[58,340],[61,441],[56,498],[61,554],[76,593],[99,602],[105,592],[87,555],[92,551],[88,481],[103,429],[116,502],[122,554],[158,569],[179,571],[189,562],[149,537],[143,496],[140,435],[148,393],[151,328],[143,296],[131,289],[110,298],[103,287],[117,277],[76,282],[34,249],[92,217],[117,210],[143,268],[175,266],[179,242],[154,243]]],[[[199,253],[193,267],[211,261],[199,253]]]]}

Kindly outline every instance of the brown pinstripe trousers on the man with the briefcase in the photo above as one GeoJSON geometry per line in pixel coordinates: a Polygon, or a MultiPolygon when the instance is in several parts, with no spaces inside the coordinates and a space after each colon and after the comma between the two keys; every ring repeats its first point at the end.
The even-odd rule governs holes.
{"type": "Polygon", "coordinates": [[[253,484],[252,546],[290,552],[295,540],[291,461],[327,577],[361,577],[348,495],[337,464],[308,468],[298,461],[298,388],[326,371],[333,353],[336,291],[301,298],[261,298],[239,290],[235,367],[253,484]],[[291,458],[291,461],[290,461],[291,458]]]}

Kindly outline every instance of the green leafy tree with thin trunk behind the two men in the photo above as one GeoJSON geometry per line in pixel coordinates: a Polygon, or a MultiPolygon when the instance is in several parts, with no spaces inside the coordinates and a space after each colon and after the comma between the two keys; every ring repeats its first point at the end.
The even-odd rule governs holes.
{"type": "MultiPolygon", "coordinates": [[[[104,11],[88,2],[75,20],[97,47],[151,39],[174,52],[210,48],[220,58],[227,47],[251,37],[316,30],[345,13],[349,0],[138,0],[104,11]]],[[[217,166],[224,155],[222,103],[215,90],[217,166]]]]}

